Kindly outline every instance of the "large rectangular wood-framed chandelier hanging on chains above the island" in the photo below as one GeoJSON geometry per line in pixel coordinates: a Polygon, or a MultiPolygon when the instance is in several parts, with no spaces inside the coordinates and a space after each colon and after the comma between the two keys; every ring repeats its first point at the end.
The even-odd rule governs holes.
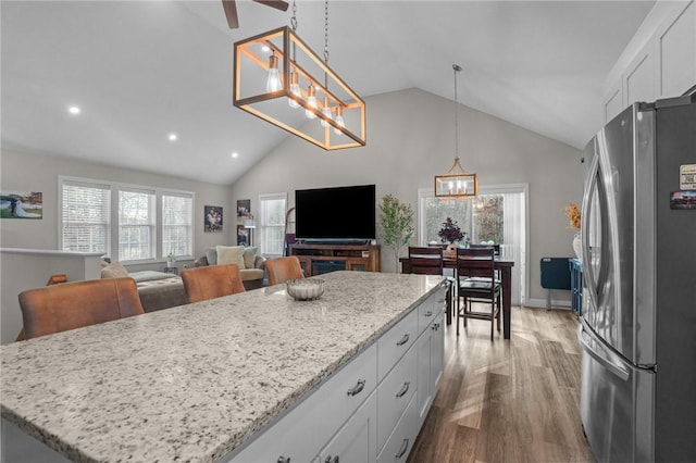
{"type": "Polygon", "coordinates": [[[291,29],[235,43],[234,105],[325,150],[364,146],[365,103],[328,67],[324,4],[324,60],[297,36],[295,2],[291,29]]]}

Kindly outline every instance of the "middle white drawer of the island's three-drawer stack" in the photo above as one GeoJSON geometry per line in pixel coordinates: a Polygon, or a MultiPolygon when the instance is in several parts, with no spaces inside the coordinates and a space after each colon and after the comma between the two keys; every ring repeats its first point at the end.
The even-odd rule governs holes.
{"type": "Polygon", "coordinates": [[[409,349],[377,388],[377,449],[382,449],[418,388],[418,351],[409,349]]]}

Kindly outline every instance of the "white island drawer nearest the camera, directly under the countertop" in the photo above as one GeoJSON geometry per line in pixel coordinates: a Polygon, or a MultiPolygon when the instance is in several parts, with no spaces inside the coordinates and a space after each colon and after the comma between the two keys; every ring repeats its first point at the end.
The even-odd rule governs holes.
{"type": "Polygon", "coordinates": [[[377,346],[373,343],[313,393],[310,391],[306,400],[236,453],[232,461],[275,463],[279,456],[293,462],[312,461],[375,390],[376,384],[377,346]],[[363,385],[356,388],[359,381],[363,385]],[[355,389],[355,393],[348,393],[349,389],[355,389]]]}

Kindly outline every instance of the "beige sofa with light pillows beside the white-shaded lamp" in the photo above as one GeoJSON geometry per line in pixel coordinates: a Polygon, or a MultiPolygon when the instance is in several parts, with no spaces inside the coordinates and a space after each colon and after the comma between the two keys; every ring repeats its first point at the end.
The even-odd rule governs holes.
{"type": "Polygon", "coordinates": [[[265,276],[265,258],[258,253],[256,247],[215,246],[204,249],[206,254],[196,259],[197,267],[217,264],[236,264],[239,266],[241,284],[246,290],[263,287],[265,276]]]}

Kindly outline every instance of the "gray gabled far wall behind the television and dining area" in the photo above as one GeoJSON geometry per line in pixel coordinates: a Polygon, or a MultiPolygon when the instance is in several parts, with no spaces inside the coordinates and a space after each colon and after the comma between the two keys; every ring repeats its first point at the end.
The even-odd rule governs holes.
{"type": "MultiPolygon", "coordinates": [[[[453,161],[453,102],[419,89],[365,102],[365,147],[327,152],[290,137],[232,186],[232,200],[250,198],[257,210],[259,193],[286,191],[291,207],[298,188],[375,184],[377,201],[391,193],[415,210],[418,188],[432,188],[433,176],[445,173],[453,161]]],[[[463,167],[478,175],[480,185],[530,185],[527,297],[532,303],[544,303],[539,260],[573,255],[573,232],[567,229],[561,208],[582,201],[582,152],[461,105],[459,153],[463,167]]],[[[394,271],[387,249],[382,252],[382,270],[394,271]]],[[[559,291],[554,298],[568,296],[559,291]]]]}

